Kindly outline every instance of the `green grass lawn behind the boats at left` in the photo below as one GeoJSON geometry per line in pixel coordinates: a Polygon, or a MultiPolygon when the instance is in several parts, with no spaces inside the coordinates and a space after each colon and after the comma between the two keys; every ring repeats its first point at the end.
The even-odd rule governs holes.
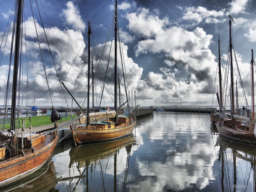
{"type": "MultiPolygon", "coordinates": [[[[37,127],[37,126],[41,126],[41,125],[49,125],[49,124],[54,124],[51,122],[50,120],[51,116],[47,116],[47,115],[43,115],[43,116],[33,116],[30,117],[31,118],[31,126],[32,127],[37,127]]],[[[77,115],[73,115],[73,118],[77,117],[77,115]]],[[[29,117],[23,117],[24,119],[26,119],[26,128],[29,127],[29,117]]],[[[67,117],[67,121],[70,120],[70,117],[67,117]]],[[[19,118],[20,121],[20,127],[22,124],[22,117],[19,118]]],[[[66,121],[66,118],[62,118],[62,122],[66,121]]],[[[1,120],[0,120],[1,122],[1,120]]],[[[58,122],[61,122],[61,120],[58,120],[58,122]]],[[[3,127],[3,125],[1,125],[1,128],[3,127]]],[[[10,129],[10,124],[5,124],[5,129],[10,129]]]]}

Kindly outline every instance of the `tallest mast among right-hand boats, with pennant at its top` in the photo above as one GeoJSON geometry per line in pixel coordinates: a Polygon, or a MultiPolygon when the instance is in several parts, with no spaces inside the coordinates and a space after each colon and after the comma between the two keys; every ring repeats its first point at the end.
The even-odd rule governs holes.
{"type": "MultiPolygon", "coordinates": [[[[232,37],[231,37],[231,20],[230,20],[231,16],[229,15],[229,41],[230,41],[230,77],[231,77],[231,105],[232,105],[232,115],[235,114],[235,95],[234,95],[234,74],[233,74],[233,57],[232,57],[232,50],[233,50],[233,45],[232,45],[232,37]]],[[[233,20],[233,19],[232,19],[233,20]]],[[[232,123],[234,125],[234,118],[232,116],[232,123]]]]}

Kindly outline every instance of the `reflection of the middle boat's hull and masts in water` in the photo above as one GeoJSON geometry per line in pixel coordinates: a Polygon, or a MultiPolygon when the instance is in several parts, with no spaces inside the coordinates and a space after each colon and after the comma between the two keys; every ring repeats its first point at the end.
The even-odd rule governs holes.
{"type": "MultiPolygon", "coordinates": [[[[99,174],[101,175],[101,185],[102,185],[102,191],[108,191],[106,190],[106,183],[109,186],[110,178],[107,178],[107,182],[105,182],[105,176],[106,174],[113,174],[114,177],[114,189],[113,191],[117,191],[117,164],[118,164],[118,157],[121,158],[119,161],[123,161],[125,157],[120,156],[119,150],[122,148],[125,148],[126,150],[126,168],[125,168],[125,176],[124,176],[124,189],[126,188],[126,179],[128,175],[128,167],[129,167],[129,159],[131,154],[131,148],[133,145],[135,145],[135,137],[134,135],[130,135],[125,138],[121,138],[118,140],[108,141],[108,142],[98,142],[93,144],[86,144],[86,145],[79,145],[77,147],[72,147],[69,151],[70,155],[70,164],[69,168],[70,171],[78,171],[80,177],[69,177],[69,178],[63,178],[64,180],[69,180],[69,188],[75,190],[75,188],[84,188],[85,191],[91,191],[91,189],[94,186],[94,183],[98,183],[98,181],[95,181],[95,171],[97,168],[99,168],[99,174]],[[114,162],[112,161],[112,158],[114,156],[114,162]],[[106,165],[105,165],[106,163],[106,165]],[[74,166],[75,164],[75,166],[74,166]],[[104,164],[104,165],[103,165],[104,164]],[[103,166],[106,166],[105,169],[102,169],[103,166]],[[75,167],[77,170],[75,170],[75,167]],[[114,173],[109,173],[107,171],[107,167],[110,169],[113,168],[114,173]],[[83,169],[83,170],[82,170],[83,169]],[[94,171],[93,171],[94,170],[94,171]],[[90,173],[89,173],[90,172],[90,173]],[[92,179],[93,177],[93,179],[92,179]],[[90,182],[89,183],[89,178],[90,182]],[[75,185],[71,183],[73,179],[78,179],[75,182],[75,185]],[[82,184],[81,184],[82,183],[82,184]],[[86,189],[85,189],[86,188],[86,189]]],[[[97,172],[98,173],[98,172],[97,172]]],[[[96,173],[96,174],[97,174],[96,173]]],[[[112,179],[112,178],[111,178],[112,179]]],[[[96,179],[97,180],[97,179],[96,179]]],[[[111,185],[113,186],[113,185],[111,185]]],[[[96,186],[95,186],[96,187],[96,186]]]]}

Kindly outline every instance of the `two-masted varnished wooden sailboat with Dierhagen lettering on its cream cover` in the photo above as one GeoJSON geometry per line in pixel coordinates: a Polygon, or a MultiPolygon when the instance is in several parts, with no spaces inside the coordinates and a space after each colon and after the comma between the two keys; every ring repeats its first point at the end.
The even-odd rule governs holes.
{"type": "MultiPolygon", "coordinates": [[[[82,143],[88,141],[105,141],[115,139],[131,134],[136,117],[132,114],[130,106],[126,106],[123,113],[118,112],[117,107],[117,0],[115,2],[115,70],[114,70],[114,108],[113,111],[89,113],[89,94],[90,94],[90,35],[91,27],[88,27],[88,90],[87,90],[87,116],[80,118],[80,125],[76,127],[70,126],[74,135],[75,142],[82,143]],[[100,120],[101,121],[98,121],[100,120]],[[103,119],[103,120],[102,120],[103,119]],[[94,122],[93,122],[94,121],[94,122]]],[[[94,80],[93,80],[94,81],[94,80]]],[[[104,86],[103,86],[104,89],[104,86]]],[[[102,92],[103,93],[103,92],[102,92]]],[[[126,93],[127,95],[127,93],[126,93]]],[[[128,100],[128,99],[127,99],[128,100]]],[[[75,101],[75,100],[74,100],[75,101]]],[[[78,104],[78,103],[77,103],[78,104]]],[[[78,104],[79,106],[79,104],[78,104]]],[[[80,107],[81,108],[81,107],[80,107]]],[[[120,106],[119,106],[120,108],[120,106]]],[[[83,111],[84,112],[84,111],[83,111]]]]}

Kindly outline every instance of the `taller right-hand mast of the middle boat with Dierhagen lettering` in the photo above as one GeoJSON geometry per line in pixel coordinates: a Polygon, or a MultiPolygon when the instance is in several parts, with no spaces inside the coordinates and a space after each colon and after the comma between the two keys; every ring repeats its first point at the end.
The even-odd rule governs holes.
{"type": "MultiPolygon", "coordinates": [[[[117,0],[115,0],[115,92],[114,92],[114,103],[115,103],[115,112],[117,113],[117,0]]],[[[115,117],[115,122],[117,118],[115,117]]]]}

